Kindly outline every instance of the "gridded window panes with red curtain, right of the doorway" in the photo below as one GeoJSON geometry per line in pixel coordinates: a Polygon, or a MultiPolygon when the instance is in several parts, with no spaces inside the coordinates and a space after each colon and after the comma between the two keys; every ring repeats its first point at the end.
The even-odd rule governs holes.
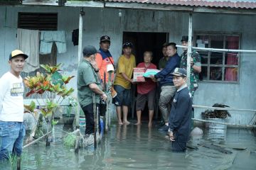
{"type": "MultiPolygon", "coordinates": [[[[196,33],[195,42],[196,47],[238,50],[240,35],[196,33]]],[[[240,67],[238,52],[198,52],[201,55],[202,81],[238,82],[240,67]]]]}

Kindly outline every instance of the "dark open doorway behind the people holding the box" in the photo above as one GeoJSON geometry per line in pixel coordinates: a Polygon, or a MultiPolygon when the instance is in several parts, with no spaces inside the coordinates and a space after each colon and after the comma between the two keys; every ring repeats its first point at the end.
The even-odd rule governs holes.
{"type": "MultiPolygon", "coordinates": [[[[156,64],[158,67],[159,60],[162,55],[162,45],[165,42],[169,42],[169,33],[144,33],[144,32],[124,32],[123,33],[123,42],[132,42],[134,45],[132,53],[136,57],[136,64],[140,62],[144,62],[143,53],[145,51],[153,52],[153,60],[152,63],[156,64]]],[[[137,119],[136,116],[136,96],[137,89],[136,86],[132,88],[132,114],[129,114],[133,119],[137,119]]],[[[142,112],[142,120],[149,120],[149,111],[147,108],[147,103],[142,112]]],[[[159,119],[159,108],[156,106],[154,111],[154,119],[159,119]]]]}

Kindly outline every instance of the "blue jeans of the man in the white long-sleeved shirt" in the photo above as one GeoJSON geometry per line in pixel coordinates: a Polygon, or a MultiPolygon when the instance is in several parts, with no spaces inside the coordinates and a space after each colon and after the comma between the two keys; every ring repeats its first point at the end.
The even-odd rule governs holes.
{"type": "Polygon", "coordinates": [[[23,123],[0,121],[0,161],[9,159],[11,154],[21,156],[25,134],[23,123]]]}

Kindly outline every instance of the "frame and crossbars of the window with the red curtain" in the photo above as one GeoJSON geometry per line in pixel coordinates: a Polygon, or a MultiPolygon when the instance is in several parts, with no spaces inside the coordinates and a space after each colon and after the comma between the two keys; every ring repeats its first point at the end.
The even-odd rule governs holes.
{"type": "MultiPolygon", "coordinates": [[[[213,31],[195,31],[193,33],[193,44],[196,47],[196,37],[197,36],[209,36],[209,43],[208,43],[208,48],[210,47],[210,36],[222,36],[223,37],[223,49],[225,49],[226,45],[226,37],[228,36],[238,36],[239,39],[239,44],[238,44],[238,50],[240,50],[241,47],[241,37],[242,34],[238,32],[213,32],[213,31]]],[[[199,54],[202,50],[198,50],[199,54]]],[[[222,64],[210,64],[210,55],[211,51],[205,51],[208,52],[208,58],[207,58],[207,64],[202,64],[201,67],[207,67],[207,79],[201,79],[201,82],[210,82],[210,83],[225,83],[225,84],[240,84],[240,60],[241,60],[241,52],[238,52],[238,65],[233,65],[233,64],[225,64],[225,54],[228,52],[222,52],[223,60],[222,64]],[[210,67],[221,67],[222,69],[222,79],[221,80],[210,80],[210,67]],[[225,81],[225,68],[238,68],[238,80],[237,81],[225,81]]]]}

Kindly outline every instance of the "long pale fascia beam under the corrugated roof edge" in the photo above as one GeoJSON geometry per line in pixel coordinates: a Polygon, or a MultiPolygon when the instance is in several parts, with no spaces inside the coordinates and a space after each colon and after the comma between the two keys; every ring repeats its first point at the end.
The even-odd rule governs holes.
{"type": "MultiPolygon", "coordinates": [[[[65,1],[65,0],[59,0],[65,1]]],[[[58,0],[23,0],[23,5],[33,6],[60,6],[58,0]]],[[[256,9],[244,8],[217,8],[203,6],[181,6],[170,4],[145,4],[137,2],[110,2],[110,1],[67,1],[63,6],[95,7],[95,8],[130,8],[154,11],[182,11],[189,13],[231,13],[255,15],[256,9]]]]}

